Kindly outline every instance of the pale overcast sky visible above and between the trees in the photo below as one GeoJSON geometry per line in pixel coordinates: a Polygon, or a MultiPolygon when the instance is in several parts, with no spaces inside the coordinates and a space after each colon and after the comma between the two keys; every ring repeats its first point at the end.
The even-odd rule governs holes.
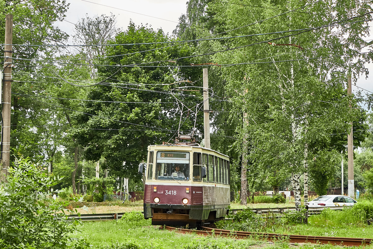
{"type": "MultiPolygon", "coordinates": [[[[126,29],[132,19],[135,25],[148,23],[154,29],[162,28],[165,34],[172,34],[179,17],[186,13],[187,0],[67,0],[67,2],[70,6],[66,13],[66,21],[57,25],[69,35],[73,34],[72,23],[77,23],[86,15],[90,17],[110,15],[110,12],[117,17],[117,26],[120,28],[126,29]]],[[[361,76],[356,85],[373,92],[372,63],[369,68],[370,77],[365,79],[365,76],[361,76]]],[[[353,91],[357,89],[359,88],[352,86],[353,91]]]]}

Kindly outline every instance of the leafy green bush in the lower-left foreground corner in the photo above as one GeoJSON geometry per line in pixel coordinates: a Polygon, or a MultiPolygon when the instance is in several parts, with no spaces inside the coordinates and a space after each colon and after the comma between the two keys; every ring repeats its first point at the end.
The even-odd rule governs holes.
{"type": "Polygon", "coordinates": [[[82,249],[85,240],[66,236],[77,231],[68,220],[67,202],[51,198],[57,178],[29,159],[17,159],[0,189],[0,247],[9,249],[82,249]]]}

